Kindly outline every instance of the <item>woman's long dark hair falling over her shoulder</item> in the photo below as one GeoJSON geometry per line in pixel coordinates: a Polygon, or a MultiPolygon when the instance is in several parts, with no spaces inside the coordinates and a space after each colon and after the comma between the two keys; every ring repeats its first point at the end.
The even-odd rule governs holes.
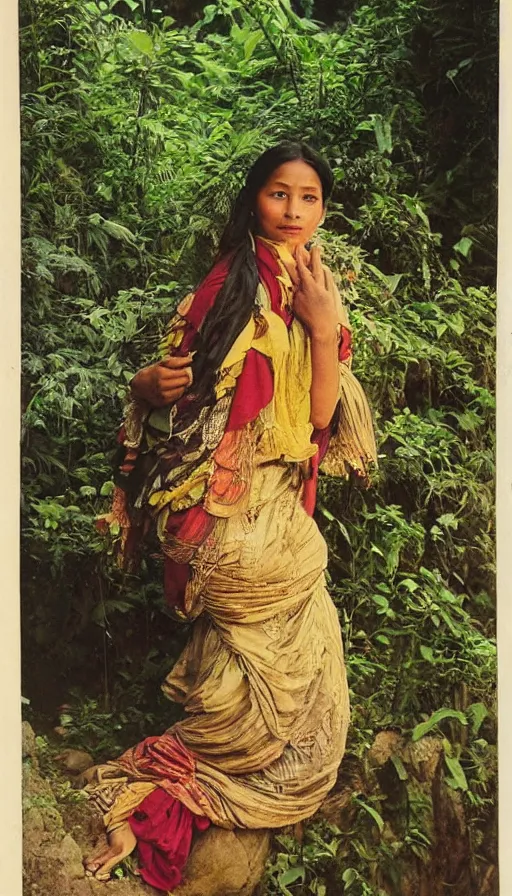
{"type": "Polygon", "coordinates": [[[271,146],[256,159],[233,204],[220,238],[217,258],[231,256],[229,273],[203,321],[200,345],[197,346],[200,350],[192,364],[194,391],[205,398],[211,394],[223,358],[254,310],[259,277],[251,241],[251,223],[256,197],[276,168],[298,160],[306,162],[318,174],[325,205],[334,183],[327,161],[306,143],[288,140],[271,146]]]}

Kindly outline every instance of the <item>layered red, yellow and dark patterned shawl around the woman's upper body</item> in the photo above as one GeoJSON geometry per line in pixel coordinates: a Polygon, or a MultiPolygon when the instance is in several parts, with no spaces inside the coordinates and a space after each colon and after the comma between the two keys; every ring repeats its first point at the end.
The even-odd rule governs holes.
{"type": "MultiPolygon", "coordinates": [[[[301,343],[302,362],[297,369],[301,370],[301,363],[304,368],[310,363],[307,336],[293,315],[293,285],[283,263],[287,250],[257,237],[254,251],[260,279],[255,311],[219,369],[211,400],[200,399],[193,385],[167,407],[150,408],[133,400],[119,433],[113,506],[110,514],[100,518],[100,526],[110,528],[113,535],[121,534],[122,563],[130,568],[141,537],[156,522],[166,558],[166,596],[174,606],[182,604],[188,564],[215,520],[244,510],[256,450],[256,422],[263,412],[267,418],[269,408],[274,416],[281,414],[276,431],[284,437],[274,438],[268,451],[270,457],[300,468],[302,500],[310,514],[322,460],[330,475],[347,476],[354,470],[365,481],[369,463],[376,462],[368,404],[350,370],[351,331],[341,301],[340,401],[332,437],[331,427],[313,431],[304,401],[301,410],[291,414],[290,385],[293,390],[294,384],[288,384],[285,392],[283,375],[279,375],[288,340],[297,345],[298,338],[301,343]]],[[[194,347],[228,270],[229,261],[222,259],[197,291],[181,302],[162,341],[162,357],[184,356],[194,347]]]]}

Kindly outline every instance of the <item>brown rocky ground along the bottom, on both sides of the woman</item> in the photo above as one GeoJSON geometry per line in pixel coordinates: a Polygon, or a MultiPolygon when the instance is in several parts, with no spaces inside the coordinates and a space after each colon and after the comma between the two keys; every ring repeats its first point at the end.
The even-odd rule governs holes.
{"type": "MultiPolygon", "coordinates": [[[[81,750],[49,755],[44,740],[35,737],[28,722],[23,723],[24,896],[106,896],[112,892],[115,896],[158,896],[159,891],[133,873],[136,866],[131,859],[117,880],[100,883],[86,876],[83,857],[100,845],[105,835],[101,818],[73,782],[92,764],[92,757],[81,750]]],[[[377,869],[375,884],[380,892],[389,896],[446,896],[447,892],[450,896],[497,896],[496,831],[490,829],[479,844],[484,860],[475,874],[474,844],[463,800],[460,792],[446,786],[443,766],[439,738],[424,737],[410,743],[396,732],[383,731],[368,753],[360,779],[340,783],[324,803],[319,816],[354,836],[354,792],[380,795],[380,805],[392,807],[384,812],[381,834],[389,844],[404,836],[404,809],[396,798],[397,768],[407,779],[408,805],[414,799],[427,807],[422,831],[430,841],[429,848],[418,855],[412,851],[406,859],[397,857],[393,885],[380,879],[377,869]]],[[[300,831],[295,833],[300,836],[300,831]]],[[[268,831],[235,833],[210,828],[198,836],[184,881],[172,896],[265,896],[259,882],[270,847],[268,831]]],[[[342,870],[335,867],[334,884],[328,884],[327,890],[331,896],[343,892],[343,884],[336,883],[342,870]]]]}

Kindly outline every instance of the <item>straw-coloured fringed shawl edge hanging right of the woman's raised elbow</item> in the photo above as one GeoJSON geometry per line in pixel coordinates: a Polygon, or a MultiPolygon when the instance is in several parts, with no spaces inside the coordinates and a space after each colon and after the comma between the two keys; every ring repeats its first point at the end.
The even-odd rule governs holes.
{"type": "Polygon", "coordinates": [[[331,436],[320,469],[328,476],[348,478],[353,470],[370,485],[370,472],[377,466],[377,446],[370,407],[364,389],[350,366],[339,365],[340,411],[337,431],[331,436]]]}

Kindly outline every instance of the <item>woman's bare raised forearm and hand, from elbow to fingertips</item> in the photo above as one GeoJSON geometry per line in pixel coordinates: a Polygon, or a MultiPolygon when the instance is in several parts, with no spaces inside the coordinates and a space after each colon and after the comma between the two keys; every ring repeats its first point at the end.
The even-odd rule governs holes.
{"type": "Polygon", "coordinates": [[[320,250],[311,250],[310,268],[304,249],[297,251],[297,288],[293,310],[311,338],[311,423],[325,429],[338,401],[338,324],[336,296],[326,285],[320,250]]]}

